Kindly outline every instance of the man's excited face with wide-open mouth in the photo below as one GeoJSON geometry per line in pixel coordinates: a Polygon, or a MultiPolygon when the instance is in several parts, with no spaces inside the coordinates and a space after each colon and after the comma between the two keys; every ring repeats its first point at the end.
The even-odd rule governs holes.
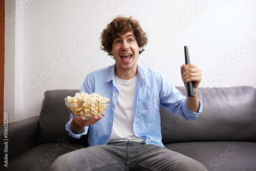
{"type": "Polygon", "coordinates": [[[115,38],[110,53],[116,60],[116,71],[131,70],[137,71],[137,59],[142,47],[138,46],[135,35],[132,31],[126,32],[121,37],[115,38]],[[136,69],[134,68],[136,67],[136,69]]]}

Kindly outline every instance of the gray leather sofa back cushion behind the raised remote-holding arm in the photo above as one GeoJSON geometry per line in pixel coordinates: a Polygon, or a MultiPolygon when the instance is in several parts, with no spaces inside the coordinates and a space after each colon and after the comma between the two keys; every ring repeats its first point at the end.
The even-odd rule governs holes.
{"type": "MultiPolygon", "coordinates": [[[[184,95],[185,88],[177,87],[184,95]]],[[[256,142],[256,89],[249,86],[198,88],[203,112],[194,121],[166,111],[162,106],[164,144],[190,141],[256,142]]]]}

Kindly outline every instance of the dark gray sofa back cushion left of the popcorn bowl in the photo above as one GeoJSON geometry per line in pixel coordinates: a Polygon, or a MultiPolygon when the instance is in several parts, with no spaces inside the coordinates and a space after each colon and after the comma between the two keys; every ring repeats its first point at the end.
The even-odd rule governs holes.
{"type": "Polygon", "coordinates": [[[65,97],[74,96],[79,90],[51,90],[45,92],[39,118],[37,142],[58,142],[59,139],[69,143],[81,143],[88,146],[88,136],[75,139],[66,131],[70,113],[65,105],[65,97]]]}

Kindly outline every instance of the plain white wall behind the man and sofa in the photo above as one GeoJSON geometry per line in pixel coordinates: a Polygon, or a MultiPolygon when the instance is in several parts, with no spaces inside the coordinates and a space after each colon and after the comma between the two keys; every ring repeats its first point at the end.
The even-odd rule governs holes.
{"type": "MultiPolygon", "coordinates": [[[[23,58],[18,58],[23,66],[15,67],[19,71],[15,76],[23,80],[17,97],[23,98],[23,110],[15,111],[19,114],[13,121],[39,115],[46,90],[80,89],[88,73],[114,64],[99,49],[99,37],[118,14],[132,15],[148,34],[139,63],[161,71],[175,86],[183,86],[180,66],[188,46],[191,62],[203,71],[201,87],[256,88],[253,0],[24,0],[21,4],[16,8],[24,11],[15,22],[21,18],[23,22],[15,29],[23,30],[18,38],[23,39],[23,58]]],[[[5,110],[20,105],[10,99],[5,97],[5,110]]]]}

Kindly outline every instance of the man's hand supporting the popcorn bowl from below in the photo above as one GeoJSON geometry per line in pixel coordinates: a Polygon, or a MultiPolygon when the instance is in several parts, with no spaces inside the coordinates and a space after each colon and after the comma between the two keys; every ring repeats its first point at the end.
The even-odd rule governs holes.
{"type": "Polygon", "coordinates": [[[90,118],[90,119],[84,118],[84,117],[80,117],[80,118],[73,117],[71,121],[71,129],[75,134],[80,134],[83,132],[84,127],[90,126],[98,122],[103,116],[105,116],[105,114],[100,116],[94,116],[93,118],[90,118]]]}

